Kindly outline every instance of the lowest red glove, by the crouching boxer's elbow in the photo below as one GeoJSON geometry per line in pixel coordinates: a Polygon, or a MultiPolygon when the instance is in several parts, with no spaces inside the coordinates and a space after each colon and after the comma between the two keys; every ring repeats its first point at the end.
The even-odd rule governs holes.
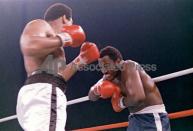
{"type": "Polygon", "coordinates": [[[120,89],[116,88],[111,98],[111,104],[115,112],[120,112],[126,108],[126,106],[123,103],[123,99],[124,97],[121,95],[120,89]]]}

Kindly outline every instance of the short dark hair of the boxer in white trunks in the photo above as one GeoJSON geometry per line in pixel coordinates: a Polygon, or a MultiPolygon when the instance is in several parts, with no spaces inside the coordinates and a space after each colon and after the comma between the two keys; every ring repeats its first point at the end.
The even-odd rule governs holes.
{"type": "Polygon", "coordinates": [[[67,19],[72,18],[72,9],[63,3],[55,3],[45,11],[44,20],[53,21],[63,15],[65,15],[67,19]]]}

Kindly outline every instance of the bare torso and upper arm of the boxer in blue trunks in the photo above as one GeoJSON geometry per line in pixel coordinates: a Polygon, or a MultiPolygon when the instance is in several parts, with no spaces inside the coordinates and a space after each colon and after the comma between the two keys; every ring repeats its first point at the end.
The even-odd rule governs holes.
{"type": "Polygon", "coordinates": [[[119,80],[115,83],[119,85],[122,94],[125,96],[124,104],[131,113],[147,106],[163,104],[154,81],[136,62],[125,61],[123,71],[118,77],[119,80]]]}

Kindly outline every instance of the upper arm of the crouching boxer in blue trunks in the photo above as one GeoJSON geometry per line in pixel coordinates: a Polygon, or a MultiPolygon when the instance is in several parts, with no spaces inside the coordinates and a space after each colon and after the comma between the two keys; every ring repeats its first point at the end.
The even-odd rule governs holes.
{"type": "Polygon", "coordinates": [[[127,97],[124,98],[124,104],[128,106],[135,106],[145,99],[145,92],[143,84],[139,75],[137,63],[127,61],[125,64],[124,76],[126,77],[125,87],[127,97]]]}

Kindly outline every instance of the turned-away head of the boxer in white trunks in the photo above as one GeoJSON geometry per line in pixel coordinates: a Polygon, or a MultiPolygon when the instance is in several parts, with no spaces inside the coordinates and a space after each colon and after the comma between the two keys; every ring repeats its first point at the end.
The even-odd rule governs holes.
{"type": "Polygon", "coordinates": [[[62,3],[53,4],[45,11],[44,20],[58,31],[63,25],[72,25],[72,9],[62,3]]]}

